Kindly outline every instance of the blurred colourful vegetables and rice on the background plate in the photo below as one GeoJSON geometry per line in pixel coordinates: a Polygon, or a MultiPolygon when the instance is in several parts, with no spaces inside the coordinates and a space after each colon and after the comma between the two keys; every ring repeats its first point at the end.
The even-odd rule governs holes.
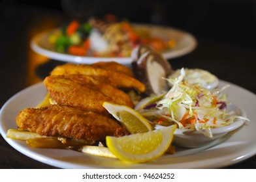
{"type": "Polygon", "coordinates": [[[63,25],[49,37],[55,51],[78,56],[130,57],[138,44],[147,44],[157,51],[172,49],[175,40],[164,41],[152,36],[148,29],[138,29],[129,21],[116,21],[113,16],[76,20],[63,25]]]}

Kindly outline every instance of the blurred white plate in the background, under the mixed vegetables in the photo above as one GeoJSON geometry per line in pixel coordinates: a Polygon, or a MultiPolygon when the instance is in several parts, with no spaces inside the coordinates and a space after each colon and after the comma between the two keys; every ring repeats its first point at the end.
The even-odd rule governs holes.
{"type": "MultiPolygon", "coordinates": [[[[166,51],[163,53],[163,57],[166,59],[173,59],[176,57],[180,57],[187,53],[190,53],[197,47],[197,40],[191,34],[173,29],[170,27],[161,27],[156,25],[142,25],[142,24],[133,24],[135,27],[141,27],[148,29],[153,36],[159,36],[163,38],[163,40],[169,40],[173,38],[176,40],[176,47],[171,51],[166,51]]],[[[39,53],[40,55],[44,55],[50,59],[60,60],[63,62],[72,62],[72,63],[83,63],[83,64],[92,64],[99,61],[116,61],[120,64],[131,64],[132,59],[130,57],[124,58],[103,58],[103,57],[79,57],[74,55],[69,55],[65,53],[57,53],[54,51],[53,45],[48,42],[48,37],[50,34],[56,31],[47,31],[42,32],[39,35],[35,36],[31,41],[31,48],[39,53]]]]}

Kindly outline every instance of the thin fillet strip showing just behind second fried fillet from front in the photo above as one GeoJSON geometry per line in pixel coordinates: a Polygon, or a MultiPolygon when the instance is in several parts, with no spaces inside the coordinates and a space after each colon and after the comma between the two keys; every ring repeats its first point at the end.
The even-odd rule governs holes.
{"type": "Polygon", "coordinates": [[[131,98],[123,92],[122,90],[108,85],[106,83],[103,83],[101,81],[97,81],[96,79],[93,79],[93,77],[89,77],[86,75],[51,75],[50,77],[60,77],[60,78],[66,78],[71,79],[72,81],[76,83],[80,83],[82,86],[86,86],[87,88],[91,90],[96,90],[107,96],[108,98],[111,98],[114,103],[120,104],[120,105],[127,105],[128,107],[135,107],[133,104],[133,101],[131,101],[131,98]]]}

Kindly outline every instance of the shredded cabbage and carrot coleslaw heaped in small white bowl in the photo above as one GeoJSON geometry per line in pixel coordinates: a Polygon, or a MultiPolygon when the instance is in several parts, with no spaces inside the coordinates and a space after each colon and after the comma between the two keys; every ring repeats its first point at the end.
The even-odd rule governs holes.
{"type": "Polygon", "coordinates": [[[157,125],[176,124],[180,129],[201,130],[204,135],[212,137],[210,129],[229,125],[238,118],[233,111],[227,111],[227,101],[223,90],[208,90],[198,84],[184,81],[185,70],[180,70],[180,76],[167,79],[172,88],[159,96],[150,96],[136,105],[136,110],[157,125]]]}

